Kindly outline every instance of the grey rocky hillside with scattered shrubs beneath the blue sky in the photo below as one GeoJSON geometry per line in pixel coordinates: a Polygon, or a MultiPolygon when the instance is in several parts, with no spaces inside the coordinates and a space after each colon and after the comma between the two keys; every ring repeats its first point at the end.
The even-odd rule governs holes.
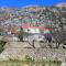
{"type": "Polygon", "coordinates": [[[66,3],[52,7],[0,8],[0,29],[23,24],[66,29],[66,3]]]}

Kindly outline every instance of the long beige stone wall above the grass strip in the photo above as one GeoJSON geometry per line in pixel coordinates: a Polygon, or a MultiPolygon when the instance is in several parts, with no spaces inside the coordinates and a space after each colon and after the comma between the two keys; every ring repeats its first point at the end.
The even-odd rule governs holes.
{"type": "Polygon", "coordinates": [[[6,50],[0,54],[0,61],[7,59],[24,59],[25,55],[35,61],[62,61],[66,62],[66,50],[63,48],[24,48],[23,43],[7,44],[6,50]],[[14,45],[14,46],[13,46],[14,45]]]}

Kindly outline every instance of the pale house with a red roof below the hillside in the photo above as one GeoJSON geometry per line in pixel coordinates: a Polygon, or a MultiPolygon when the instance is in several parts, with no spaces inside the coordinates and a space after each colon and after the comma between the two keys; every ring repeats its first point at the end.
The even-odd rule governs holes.
{"type": "Polygon", "coordinates": [[[50,30],[44,26],[30,26],[23,25],[21,26],[24,32],[30,33],[29,36],[23,37],[24,41],[42,41],[44,38],[45,33],[50,33],[50,30]]]}

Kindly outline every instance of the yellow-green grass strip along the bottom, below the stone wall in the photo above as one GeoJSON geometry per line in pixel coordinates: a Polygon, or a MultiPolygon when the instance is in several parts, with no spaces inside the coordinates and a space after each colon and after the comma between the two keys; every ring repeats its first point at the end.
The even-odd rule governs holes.
{"type": "Polygon", "coordinates": [[[0,66],[61,66],[61,62],[3,61],[0,66]]]}

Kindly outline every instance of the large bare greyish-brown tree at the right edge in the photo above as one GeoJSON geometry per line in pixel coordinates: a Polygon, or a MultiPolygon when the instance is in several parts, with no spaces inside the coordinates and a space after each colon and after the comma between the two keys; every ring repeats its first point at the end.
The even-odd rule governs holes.
{"type": "Polygon", "coordinates": [[[65,30],[57,30],[53,32],[53,37],[56,42],[56,47],[59,47],[59,44],[66,45],[66,31],[65,30]]]}

